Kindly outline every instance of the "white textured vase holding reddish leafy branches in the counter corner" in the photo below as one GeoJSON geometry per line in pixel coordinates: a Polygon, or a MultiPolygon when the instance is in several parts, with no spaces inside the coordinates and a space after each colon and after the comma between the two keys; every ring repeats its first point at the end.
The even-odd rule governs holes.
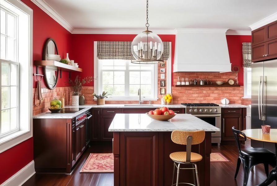
{"type": "Polygon", "coordinates": [[[88,76],[81,80],[79,76],[76,76],[75,81],[69,80],[69,86],[71,89],[71,95],[72,95],[72,106],[78,106],[79,105],[79,94],[82,90],[82,87],[84,84],[92,82],[94,78],[92,76],[88,76]]]}

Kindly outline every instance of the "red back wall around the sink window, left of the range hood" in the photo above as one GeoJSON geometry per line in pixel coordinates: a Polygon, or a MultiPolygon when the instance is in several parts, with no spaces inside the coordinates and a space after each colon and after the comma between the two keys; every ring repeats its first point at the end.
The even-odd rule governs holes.
{"type": "MultiPolygon", "coordinates": [[[[136,35],[129,34],[72,34],[71,38],[71,53],[69,59],[72,57],[74,63],[78,63],[79,67],[83,69],[80,77],[94,75],[94,41],[133,41],[136,35]]],[[[172,65],[174,61],[175,51],[175,35],[159,35],[162,41],[171,42],[172,45],[172,65]]],[[[173,69],[173,66],[172,66],[173,69]]],[[[76,75],[76,74],[74,74],[76,75]]],[[[172,79],[173,80],[173,79],[172,79]]],[[[173,83],[173,82],[172,82],[173,83]]],[[[85,86],[94,86],[93,82],[85,86]]]]}

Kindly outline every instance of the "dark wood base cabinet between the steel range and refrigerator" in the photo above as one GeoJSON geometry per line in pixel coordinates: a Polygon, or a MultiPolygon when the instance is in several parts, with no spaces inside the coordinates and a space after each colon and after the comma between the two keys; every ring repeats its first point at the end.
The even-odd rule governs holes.
{"type": "Polygon", "coordinates": [[[232,127],[246,129],[246,108],[221,108],[221,144],[235,144],[232,127]]]}

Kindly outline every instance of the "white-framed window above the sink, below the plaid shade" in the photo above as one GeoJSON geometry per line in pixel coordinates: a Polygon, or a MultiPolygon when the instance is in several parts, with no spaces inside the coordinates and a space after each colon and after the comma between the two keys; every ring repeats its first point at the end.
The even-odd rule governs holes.
{"type": "Polygon", "coordinates": [[[133,64],[131,60],[98,60],[98,93],[109,99],[157,99],[157,64],[133,64]]]}

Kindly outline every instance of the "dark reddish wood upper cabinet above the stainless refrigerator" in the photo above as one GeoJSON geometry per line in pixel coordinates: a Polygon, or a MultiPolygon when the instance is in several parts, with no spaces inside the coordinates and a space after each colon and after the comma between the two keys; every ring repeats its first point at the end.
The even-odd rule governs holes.
{"type": "Polygon", "coordinates": [[[252,31],[252,62],[277,58],[277,21],[252,31]]]}

